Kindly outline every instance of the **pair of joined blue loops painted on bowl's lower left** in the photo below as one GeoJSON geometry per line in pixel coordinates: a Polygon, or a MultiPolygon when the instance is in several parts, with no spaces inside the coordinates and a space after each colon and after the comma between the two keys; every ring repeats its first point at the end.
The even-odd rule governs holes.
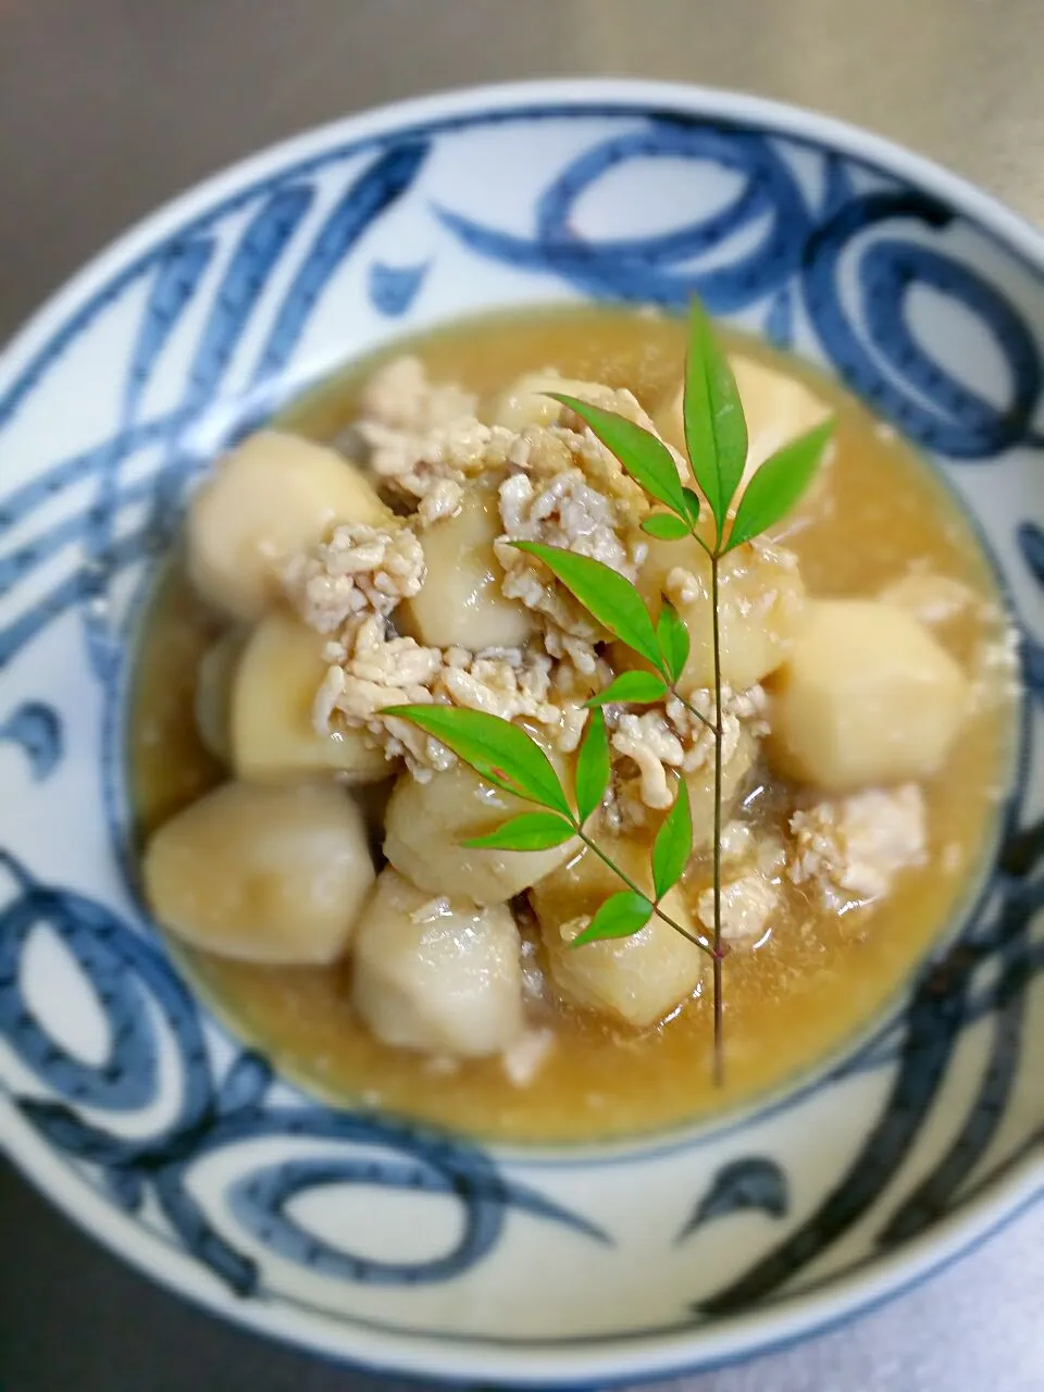
{"type": "Polygon", "coordinates": [[[107,1192],[124,1211],[136,1210],[150,1189],[187,1250],[237,1293],[256,1289],[256,1264],[209,1221],[192,1194],[191,1175],[205,1157],[262,1139],[303,1137],[366,1151],[367,1158],[347,1153],[264,1165],[244,1175],[230,1197],[231,1212],[259,1242],[287,1260],[344,1279],[395,1285],[450,1279],[493,1250],[509,1211],[610,1242],[580,1214],[507,1182],[477,1146],[366,1114],[266,1107],[271,1069],[249,1050],[219,1083],[196,1002],[160,948],[92,899],[39,884],[10,853],[0,852],[0,864],[15,885],[0,910],[0,1038],[61,1098],[21,1098],[22,1115],[65,1154],[102,1166],[107,1192]],[[106,1019],[109,1057],[97,1066],[68,1055],[26,1006],[19,962],[31,934],[43,926],[72,955],[106,1019]],[[74,1105],[114,1115],[143,1114],[155,1105],[160,1089],[155,1015],[177,1051],[180,1107],[152,1134],[128,1139],[99,1121],[85,1121],[74,1105]],[[395,1158],[373,1161],[374,1147],[395,1158]],[[334,1249],[309,1236],[285,1211],[294,1197],[330,1183],[441,1194],[461,1208],[461,1237],[436,1261],[381,1264],[334,1249]]]}

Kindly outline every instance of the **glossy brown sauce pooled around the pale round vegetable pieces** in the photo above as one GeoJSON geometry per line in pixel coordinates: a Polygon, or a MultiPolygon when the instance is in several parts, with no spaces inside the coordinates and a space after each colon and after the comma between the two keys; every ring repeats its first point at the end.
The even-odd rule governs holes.
{"type": "MultiPolygon", "coordinates": [[[[749,341],[731,345],[741,342],[766,356],[749,341]]],[[[677,320],[619,310],[554,310],[476,320],[411,348],[434,379],[480,393],[555,366],[568,376],[628,386],[649,404],[677,380],[685,330],[677,320]]],[[[287,418],[290,427],[334,437],[352,420],[359,381],[372,366],[299,404],[287,418]]],[[[809,592],[876,594],[920,561],[994,600],[970,528],[909,447],[851,397],[792,362],[788,370],[814,380],[838,412],[834,515],[793,541],[809,592]]],[[[142,837],[223,777],[192,718],[195,665],[214,632],[175,564],[145,624],[129,729],[142,837]]],[[[949,622],[941,636],[972,671],[981,644],[1001,632],[998,618],[980,614],[949,622]]],[[[728,958],[722,1089],[710,1077],[706,997],[640,1036],[594,1016],[558,1013],[544,1066],[528,1087],[515,1087],[497,1059],[447,1069],[377,1043],[352,1020],[347,966],[287,970],[182,948],[178,954],[239,1034],[326,1097],[509,1141],[592,1141],[677,1126],[749,1102],[816,1068],[894,997],[977,878],[1008,777],[1011,711],[1012,703],[1001,699],[976,715],[928,786],[928,866],[903,874],[881,906],[844,919],[795,892],[763,948],[728,958]]]]}

